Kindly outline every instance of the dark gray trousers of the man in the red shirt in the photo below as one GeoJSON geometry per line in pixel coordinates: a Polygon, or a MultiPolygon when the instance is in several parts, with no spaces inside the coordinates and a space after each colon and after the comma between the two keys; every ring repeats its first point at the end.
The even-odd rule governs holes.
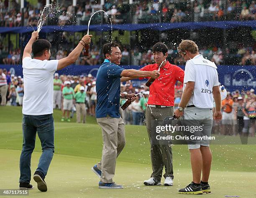
{"type": "Polygon", "coordinates": [[[159,142],[158,145],[152,144],[151,142],[151,129],[155,130],[154,122],[155,120],[162,121],[165,117],[173,116],[173,107],[163,107],[156,108],[151,107],[146,108],[146,127],[148,131],[148,137],[151,144],[151,163],[153,173],[151,177],[156,178],[161,181],[163,168],[165,168],[164,178],[173,176],[173,168],[172,168],[172,147],[171,145],[161,144],[159,142]]]}

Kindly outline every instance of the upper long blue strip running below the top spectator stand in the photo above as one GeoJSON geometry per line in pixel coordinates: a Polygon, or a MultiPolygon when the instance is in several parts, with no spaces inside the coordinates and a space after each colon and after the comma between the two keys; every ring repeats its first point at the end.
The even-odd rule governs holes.
{"type": "MultiPolygon", "coordinates": [[[[251,27],[256,28],[256,20],[249,21],[209,21],[209,22],[184,22],[184,23],[145,23],[145,24],[114,24],[113,30],[142,30],[142,29],[151,29],[151,30],[171,30],[177,28],[186,28],[189,30],[195,30],[200,28],[220,28],[220,29],[229,29],[237,27],[251,27]]],[[[47,25],[43,26],[41,32],[51,33],[56,31],[68,31],[68,32],[81,32],[87,31],[87,25],[47,25]]],[[[29,33],[33,30],[36,30],[37,27],[0,27],[0,33],[29,33]]],[[[109,31],[111,30],[110,24],[104,25],[90,25],[89,31],[109,31]]]]}

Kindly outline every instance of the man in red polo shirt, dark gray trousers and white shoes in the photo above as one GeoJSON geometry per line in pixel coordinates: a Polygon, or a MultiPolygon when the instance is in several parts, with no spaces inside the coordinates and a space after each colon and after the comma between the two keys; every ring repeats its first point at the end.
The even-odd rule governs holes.
{"type": "MultiPolygon", "coordinates": [[[[153,46],[153,56],[156,63],[146,65],[140,69],[141,71],[154,71],[158,70],[161,65],[160,76],[151,84],[149,91],[148,106],[151,107],[152,113],[148,106],[146,108],[146,127],[151,143],[153,173],[150,179],[144,181],[145,185],[161,185],[163,168],[165,168],[164,185],[173,185],[172,147],[171,145],[161,144],[161,142],[153,144],[151,138],[151,129],[155,130],[154,122],[161,122],[165,117],[173,116],[175,83],[176,81],[183,83],[184,79],[184,71],[166,61],[167,51],[168,48],[164,43],[156,43],[153,46]]],[[[121,78],[121,81],[127,80],[131,80],[131,78],[121,78]]]]}

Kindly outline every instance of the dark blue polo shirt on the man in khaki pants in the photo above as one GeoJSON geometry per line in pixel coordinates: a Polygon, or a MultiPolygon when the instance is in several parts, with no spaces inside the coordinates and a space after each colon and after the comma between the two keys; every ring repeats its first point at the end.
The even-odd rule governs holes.
{"type": "Polygon", "coordinates": [[[105,59],[96,76],[96,118],[119,118],[120,112],[120,78],[124,69],[105,59]]]}

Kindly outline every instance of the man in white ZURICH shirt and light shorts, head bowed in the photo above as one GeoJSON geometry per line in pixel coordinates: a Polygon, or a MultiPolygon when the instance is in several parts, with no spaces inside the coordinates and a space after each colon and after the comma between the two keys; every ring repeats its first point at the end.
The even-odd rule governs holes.
{"type": "MultiPolygon", "coordinates": [[[[187,63],[182,99],[174,114],[176,117],[183,116],[183,119],[189,125],[200,126],[203,132],[210,134],[212,129],[213,97],[216,105],[213,118],[216,121],[222,119],[217,67],[215,63],[199,54],[198,47],[194,41],[182,41],[178,50],[187,63]]],[[[203,192],[211,192],[208,184],[212,162],[209,141],[199,141],[199,143],[196,142],[196,144],[188,145],[188,147],[193,181],[187,187],[180,189],[179,193],[202,194],[203,192]]]]}

